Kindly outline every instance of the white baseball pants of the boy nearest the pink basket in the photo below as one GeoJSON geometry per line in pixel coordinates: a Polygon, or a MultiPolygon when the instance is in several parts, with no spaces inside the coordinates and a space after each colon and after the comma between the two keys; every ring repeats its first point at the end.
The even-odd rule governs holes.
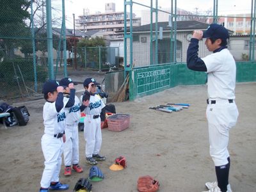
{"type": "Polygon", "coordinates": [[[99,154],[102,143],[102,134],[100,129],[100,117],[93,118],[87,115],[84,118],[84,139],[85,156],[92,157],[93,154],[99,154]]]}

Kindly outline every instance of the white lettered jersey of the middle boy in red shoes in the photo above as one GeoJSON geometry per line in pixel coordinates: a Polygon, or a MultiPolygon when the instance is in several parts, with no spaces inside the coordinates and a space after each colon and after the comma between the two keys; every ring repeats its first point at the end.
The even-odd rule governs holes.
{"type": "MultiPolygon", "coordinates": [[[[63,100],[65,102],[68,101],[69,98],[64,97],[63,100]]],[[[65,108],[65,112],[67,114],[66,118],[66,124],[67,125],[72,125],[74,122],[79,121],[81,112],[80,112],[80,100],[78,97],[75,95],[75,104],[71,108],[65,108]]]]}

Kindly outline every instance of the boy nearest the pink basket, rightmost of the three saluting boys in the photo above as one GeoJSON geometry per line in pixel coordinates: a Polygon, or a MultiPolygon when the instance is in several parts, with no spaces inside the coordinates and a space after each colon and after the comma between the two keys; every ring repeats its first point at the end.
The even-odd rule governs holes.
{"type": "Polygon", "coordinates": [[[90,100],[81,100],[86,106],[84,113],[84,139],[86,140],[85,155],[86,162],[89,164],[97,164],[97,161],[105,161],[106,157],[100,156],[100,147],[102,143],[102,134],[100,129],[100,112],[105,107],[104,102],[99,96],[95,95],[97,91],[96,85],[99,84],[93,78],[84,80],[83,86],[86,92],[90,93],[90,100]]]}

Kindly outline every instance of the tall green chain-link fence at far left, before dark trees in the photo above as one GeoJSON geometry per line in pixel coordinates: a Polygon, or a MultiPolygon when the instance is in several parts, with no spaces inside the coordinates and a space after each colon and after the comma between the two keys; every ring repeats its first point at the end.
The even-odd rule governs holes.
{"type": "MultiPolygon", "coordinates": [[[[48,65],[45,1],[1,0],[0,4],[0,98],[38,95],[52,72],[48,65]]],[[[60,10],[51,9],[60,13],[60,17],[52,17],[52,26],[60,26],[60,10]]],[[[63,36],[58,30],[52,31],[52,60],[56,66],[61,63],[63,36]]]]}

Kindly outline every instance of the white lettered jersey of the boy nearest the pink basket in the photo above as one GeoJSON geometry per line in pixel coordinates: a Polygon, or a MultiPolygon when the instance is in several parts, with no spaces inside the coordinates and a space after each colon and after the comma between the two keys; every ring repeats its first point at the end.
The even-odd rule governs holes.
{"type": "MultiPolygon", "coordinates": [[[[83,101],[83,95],[81,96],[83,101]]],[[[84,109],[84,113],[87,115],[100,115],[101,109],[105,107],[104,102],[100,99],[99,95],[91,95],[89,106],[84,109]]]]}

